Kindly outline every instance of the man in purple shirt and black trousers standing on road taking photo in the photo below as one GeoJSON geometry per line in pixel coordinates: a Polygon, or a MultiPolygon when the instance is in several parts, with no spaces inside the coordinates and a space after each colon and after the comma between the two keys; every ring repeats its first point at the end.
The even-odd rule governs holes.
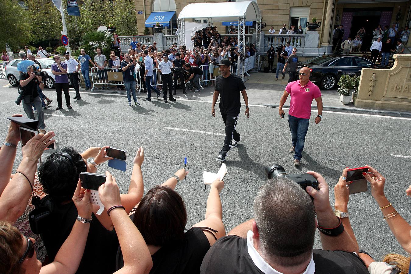
{"type": "Polygon", "coordinates": [[[57,108],[56,110],[62,109],[62,90],[64,92],[64,97],[66,100],[66,105],[68,109],[72,109],[70,104],[70,94],[69,94],[69,78],[67,77],[67,64],[65,62],[61,62],[60,56],[54,55],[53,59],[55,61],[54,64],[51,65],[51,73],[55,75],[55,91],[57,92],[57,108]]]}

